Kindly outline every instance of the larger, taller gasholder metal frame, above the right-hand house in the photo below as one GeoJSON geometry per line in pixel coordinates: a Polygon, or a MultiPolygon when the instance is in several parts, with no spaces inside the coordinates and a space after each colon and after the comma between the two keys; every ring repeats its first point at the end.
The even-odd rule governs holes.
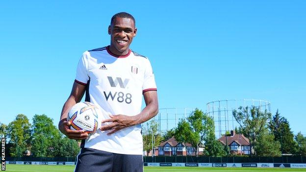
{"type": "Polygon", "coordinates": [[[234,130],[238,123],[232,115],[234,109],[242,107],[257,107],[260,110],[271,112],[271,103],[260,99],[229,99],[216,100],[206,103],[206,113],[213,117],[215,134],[220,138],[226,131],[234,130]]]}

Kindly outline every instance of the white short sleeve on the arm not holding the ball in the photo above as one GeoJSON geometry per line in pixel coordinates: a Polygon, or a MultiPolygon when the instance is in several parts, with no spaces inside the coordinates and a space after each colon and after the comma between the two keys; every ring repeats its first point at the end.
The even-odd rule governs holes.
{"type": "Polygon", "coordinates": [[[144,82],[142,86],[142,92],[145,93],[147,91],[157,91],[155,77],[152,70],[152,66],[149,60],[146,63],[144,82]]]}

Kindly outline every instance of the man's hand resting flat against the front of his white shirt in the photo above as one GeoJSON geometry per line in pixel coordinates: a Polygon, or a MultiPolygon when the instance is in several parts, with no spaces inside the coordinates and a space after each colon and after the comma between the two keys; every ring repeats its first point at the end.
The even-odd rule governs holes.
{"type": "Polygon", "coordinates": [[[100,129],[102,131],[111,130],[107,135],[113,134],[123,128],[137,124],[136,116],[127,115],[109,115],[110,119],[102,120],[102,123],[109,123],[103,125],[100,129]]]}

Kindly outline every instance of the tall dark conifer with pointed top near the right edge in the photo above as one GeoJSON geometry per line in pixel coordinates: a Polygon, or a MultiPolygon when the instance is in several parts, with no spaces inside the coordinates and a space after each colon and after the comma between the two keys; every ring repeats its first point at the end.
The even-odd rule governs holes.
{"type": "Polygon", "coordinates": [[[279,110],[270,121],[269,129],[275,136],[274,140],[280,142],[282,153],[295,153],[296,143],[293,132],[287,119],[280,116],[279,110]]]}

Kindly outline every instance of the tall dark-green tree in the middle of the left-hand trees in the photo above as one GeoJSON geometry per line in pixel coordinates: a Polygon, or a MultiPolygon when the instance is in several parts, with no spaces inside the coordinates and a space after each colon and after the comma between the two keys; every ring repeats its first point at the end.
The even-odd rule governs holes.
{"type": "Polygon", "coordinates": [[[36,157],[53,156],[52,148],[57,147],[56,141],[60,140],[60,132],[53,125],[53,120],[47,115],[34,115],[32,125],[32,153],[36,157]]]}

